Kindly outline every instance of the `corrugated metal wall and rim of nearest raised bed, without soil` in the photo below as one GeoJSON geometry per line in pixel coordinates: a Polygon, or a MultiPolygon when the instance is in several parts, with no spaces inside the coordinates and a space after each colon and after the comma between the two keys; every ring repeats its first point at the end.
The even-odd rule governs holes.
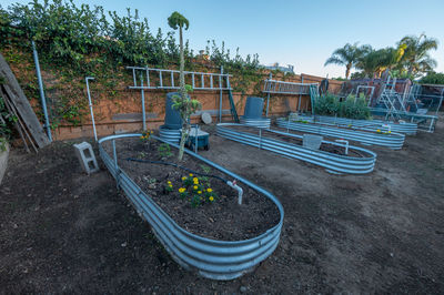
{"type": "MultiPolygon", "coordinates": [[[[113,159],[102,146],[107,141],[139,138],[140,135],[134,133],[103,138],[99,140],[99,153],[118,185],[123,190],[138,213],[150,223],[155,236],[175,262],[185,269],[194,271],[204,277],[226,281],[252,271],[273,253],[280,241],[284,218],[283,206],[273,194],[210,160],[185,150],[189,155],[269,197],[276,205],[281,215],[275,226],[250,240],[218,241],[192,234],[179,226],[123,170],[114,164],[113,159]]],[[[152,138],[179,149],[176,144],[171,144],[154,135],[152,138]]],[[[118,163],[117,155],[115,163],[118,163]]]]}

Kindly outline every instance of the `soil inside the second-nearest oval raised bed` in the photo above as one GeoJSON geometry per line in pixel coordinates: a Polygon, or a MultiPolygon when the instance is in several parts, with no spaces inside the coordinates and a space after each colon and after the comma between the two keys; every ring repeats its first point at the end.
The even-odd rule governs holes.
{"type": "MultiPolygon", "coordinates": [[[[249,132],[249,133],[253,133],[253,134],[259,134],[259,130],[256,128],[249,128],[249,126],[229,126],[230,129],[240,131],[240,132],[249,132]]],[[[286,129],[282,129],[282,128],[274,128],[276,131],[281,131],[281,132],[286,132],[286,129]]],[[[292,131],[292,133],[297,133],[296,131],[292,131]]],[[[303,133],[300,133],[301,135],[303,133]]],[[[292,138],[292,136],[287,136],[287,135],[283,135],[283,134],[278,134],[274,132],[270,132],[266,129],[262,130],[262,136],[266,136],[269,139],[274,139],[274,140],[280,140],[280,141],[285,141],[289,143],[293,143],[296,145],[301,145],[302,146],[302,139],[297,139],[297,138],[292,138]]],[[[356,157],[364,157],[365,155],[356,150],[353,149],[349,149],[349,154],[345,154],[345,148],[344,146],[340,146],[340,145],[334,145],[334,144],[329,144],[329,143],[322,143],[320,146],[320,150],[323,152],[327,152],[327,153],[333,153],[333,154],[339,154],[339,155],[346,155],[346,156],[356,156],[356,157]]]]}

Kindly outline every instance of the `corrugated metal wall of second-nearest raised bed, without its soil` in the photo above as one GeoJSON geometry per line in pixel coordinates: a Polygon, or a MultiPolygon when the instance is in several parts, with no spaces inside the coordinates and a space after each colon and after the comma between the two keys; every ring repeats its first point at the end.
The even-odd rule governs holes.
{"type": "MultiPolygon", "coordinates": [[[[322,167],[325,167],[327,172],[342,174],[366,174],[374,170],[376,163],[376,154],[363,148],[349,145],[349,151],[355,150],[364,153],[365,156],[347,156],[339,155],[319,150],[310,150],[302,145],[293,143],[269,139],[263,136],[261,133],[258,134],[250,132],[240,132],[230,129],[230,126],[245,126],[242,124],[234,123],[222,123],[216,125],[216,134],[221,138],[225,138],[242,144],[252,145],[261,150],[266,150],[283,156],[302,160],[322,167]]],[[[274,130],[268,130],[276,134],[286,135],[290,138],[302,139],[303,136],[291,134],[286,132],[279,132],[274,130]]],[[[336,142],[322,141],[323,143],[343,146],[336,142]]]]}

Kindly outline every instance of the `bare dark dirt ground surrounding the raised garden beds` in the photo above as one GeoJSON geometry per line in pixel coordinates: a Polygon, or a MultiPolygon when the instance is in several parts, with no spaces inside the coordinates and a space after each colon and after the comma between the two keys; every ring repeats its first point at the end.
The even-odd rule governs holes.
{"type": "Polygon", "coordinates": [[[253,273],[214,282],[181,269],[105,170],[72,143],[12,151],[0,187],[0,293],[444,293],[444,123],[382,148],[376,169],[332,175],[211,136],[200,154],[276,195],[281,243],[253,273]]]}

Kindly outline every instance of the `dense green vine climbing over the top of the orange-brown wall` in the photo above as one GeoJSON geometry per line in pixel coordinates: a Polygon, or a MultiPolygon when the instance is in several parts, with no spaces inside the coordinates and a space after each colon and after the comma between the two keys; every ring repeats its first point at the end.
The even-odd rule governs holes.
{"type": "MultiPolygon", "coordinates": [[[[119,104],[120,91],[132,83],[125,65],[149,65],[178,69],[179,45],[173,32],[155,34],[145,18],[128,9],[125,16],[105,11],[102,7],[77,6],[72,0],[39,1],[29,4],[0,6],[0,49],[8,62],[21,65],[30,77],[20,77],[20,83],[29,98],[39,98],[33,69],[30,40],[37,44],[48,92],[52,128],[68,123],[79,125],[88,114],[84,100],[84,77],[94,77],[91,91],[119,104]]],[[[242,58],[214,40],[208,41],[208,63],[199,62],[200,55],[184,44],[185,70],[214,71],[224,68],[233,74],[233,91],[261,95],[264,72],[258,54],[242,58]],[[253,93],[252,93],[253,92],[253,93]]],[[[21,74],[20,74],[21,75],[21,74]]],[[[154,80],[155,81],[155,80],[154,80]]],[[[39,101],[39,100],[38,100],[39,101]]],[[[41,115],[41,114],[39,114],[41,115]]]]}

